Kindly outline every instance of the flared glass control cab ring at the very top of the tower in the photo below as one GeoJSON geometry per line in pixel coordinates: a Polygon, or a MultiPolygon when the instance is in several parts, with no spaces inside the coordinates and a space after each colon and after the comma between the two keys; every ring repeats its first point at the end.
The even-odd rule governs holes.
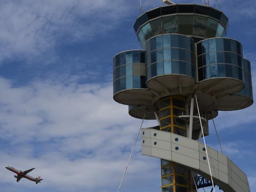
{"type": "Polygon", "coordinates": [[[196,41],[223,37],[227,25],[228,18],[216,9],[194,4],[178,4],[147,11],[136,19],[134,29],[144,48],[144,43],[150,37],[160,34],[189,35],[195,37],[196,41]]]}

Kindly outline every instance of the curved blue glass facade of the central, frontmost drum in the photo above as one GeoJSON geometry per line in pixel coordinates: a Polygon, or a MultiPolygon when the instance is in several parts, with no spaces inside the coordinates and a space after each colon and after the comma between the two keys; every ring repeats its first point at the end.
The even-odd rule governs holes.
{"type": "Polygon", "coordinates": [[[166,74],[195,78],[194,40],[185,35],[166,34],[146,44],[147,79],[166,74]]]}

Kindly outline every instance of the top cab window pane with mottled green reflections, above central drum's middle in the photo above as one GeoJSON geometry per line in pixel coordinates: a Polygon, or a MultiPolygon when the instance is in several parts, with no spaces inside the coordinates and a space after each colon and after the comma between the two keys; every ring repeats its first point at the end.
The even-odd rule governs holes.
{"type": "Polygon", "coordinates": [[[164,34],[178,33],[178,17],[163,17],[164,34]]]}

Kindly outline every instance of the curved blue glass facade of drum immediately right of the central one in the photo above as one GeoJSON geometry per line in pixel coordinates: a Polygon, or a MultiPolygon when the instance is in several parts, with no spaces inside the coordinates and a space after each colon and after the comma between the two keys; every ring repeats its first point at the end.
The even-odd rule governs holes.
{"type": "Polygon", "coordinates": [[[234,39],[212,38],[197,43],[198,81],[230,77],[243,81],[242,45],[234,39]]]}

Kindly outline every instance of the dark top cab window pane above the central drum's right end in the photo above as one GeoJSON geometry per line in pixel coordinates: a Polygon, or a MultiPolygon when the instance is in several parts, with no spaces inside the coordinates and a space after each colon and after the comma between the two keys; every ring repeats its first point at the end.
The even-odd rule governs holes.
{"type": "Polygon", "coordinates": [[[191,35],[193,32],[194,15],[178,15],[179,34],[191,35]]]}

